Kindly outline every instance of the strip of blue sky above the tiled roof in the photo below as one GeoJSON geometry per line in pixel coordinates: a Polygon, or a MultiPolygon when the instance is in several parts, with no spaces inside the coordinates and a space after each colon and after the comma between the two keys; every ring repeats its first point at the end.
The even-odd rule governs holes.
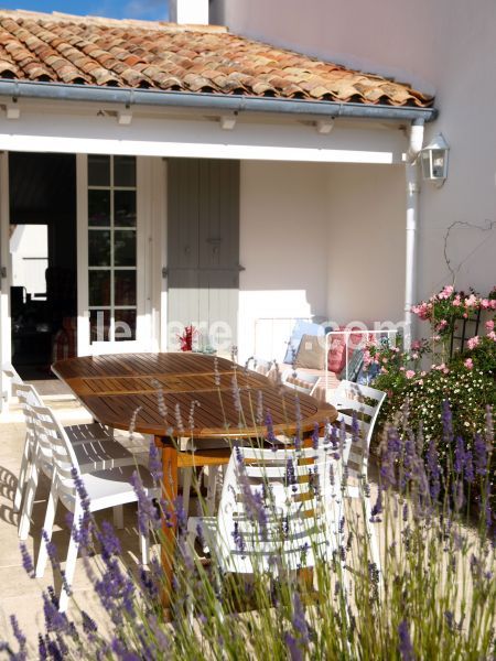
{"type": "Polygon", "coordinates": [[[1,9],[62,11],[64,13],[112,17],[116,19],[166,20],[168,0],[0,0],[1,9]]]}

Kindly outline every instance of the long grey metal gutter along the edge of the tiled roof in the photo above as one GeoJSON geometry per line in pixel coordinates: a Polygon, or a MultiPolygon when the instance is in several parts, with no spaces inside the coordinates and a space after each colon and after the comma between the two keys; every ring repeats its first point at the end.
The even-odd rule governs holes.
{"type": "Polygon", "coordinates": [[[432,121],[438,116],[435,108],[412,106],[373,106],[337,101],[313,101],[280,99],[244,95],[220,95],[194,91],[163,91],[155,89],[130,89],[122,87],[97,87],[63,83],[32,83],[24,80],[0,80],[0,97],[11,100],[44,99],[57,101],[91,101],[97,104],[121,104],[164,108],[196,108],[222,112],[274,112],[308,117],[362,117],[367,119],[395,119],[405,121],[432,121]]]}

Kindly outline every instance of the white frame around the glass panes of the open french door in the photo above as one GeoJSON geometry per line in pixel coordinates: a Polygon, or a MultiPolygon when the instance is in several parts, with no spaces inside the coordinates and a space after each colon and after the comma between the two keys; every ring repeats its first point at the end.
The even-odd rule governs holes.
{"type": "Polygon", "coordinates": [[[155,350],[153,323],[152,218],[153,177],[150,159],[137,158],[137,329],[134,340],[89,343],[88,301],[88,158],[76,156],[77,178],[77,355],[155,350]]]}

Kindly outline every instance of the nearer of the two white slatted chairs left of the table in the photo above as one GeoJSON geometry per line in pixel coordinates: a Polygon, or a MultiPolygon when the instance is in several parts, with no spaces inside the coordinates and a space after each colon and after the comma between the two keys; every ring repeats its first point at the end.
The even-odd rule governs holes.
{"type": "MultiPolygon", "coordinates": [[[[46,506],[45,521],[43,524],[43,529],[46,532],[48,541],[52,539],[53,523],[58,500],[61,500],[71,512],[73,512],[73,525],[77,527],[80,523],[83,506],[72,476],[73,468],[75,468],[77,474],[82,477],[89,498],[90,512],[121,507],[128,502],[137,502],[138,497],[131,484],[131,477],[134,470],[139,470],[147,496],[149,498],[160,498],[161,488],[159,486],[154,486],[149,470],[143,467],[139,467],[138,469],[137,466],[123,466],[120,468],[114,467],[94,473],[82,474],[77,451],[75,446],[72,445],[67,434],[56,420],[51,409],[46,407],[32,407],[32,416],[36,427],[36,436],[40,440],[40,446],[43,448],[51,448],[52,462],[54,465],[52,486],[46,506]]],[[[67,586],[72,585],[78,553],[78,542],[74,539],[74,534],[71,535],[64,571],[67,586]]],[[[144,535],[140,533],[140,544],[142,562],[143,564],[148,564],[148,534],[144,535]]],[[[35,567],[36,577],[43,576],[46,561],[47,549],[42,538],[35,567]]],[[[65,586],[63,586],[60,597],[61,613],[66,610],[67,603],[68,595],[65,586]]]]}

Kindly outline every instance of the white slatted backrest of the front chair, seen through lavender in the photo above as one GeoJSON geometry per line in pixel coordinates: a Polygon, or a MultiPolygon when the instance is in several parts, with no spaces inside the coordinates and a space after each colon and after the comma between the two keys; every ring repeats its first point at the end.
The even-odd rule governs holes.
{"type": "Polygon", "coordinates": [[[317,449],[235,448],[217,514],[224,568],[279,573],[328,559],[335,549],[339,475],[339,463],[322,438],[317,449]]]}

